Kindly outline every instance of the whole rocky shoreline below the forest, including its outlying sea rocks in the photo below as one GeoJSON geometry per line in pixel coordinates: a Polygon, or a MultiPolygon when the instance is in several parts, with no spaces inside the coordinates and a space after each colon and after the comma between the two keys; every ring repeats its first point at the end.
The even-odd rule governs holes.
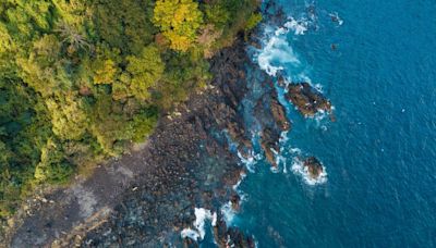
{"type": "MultiPolygon", "coordinates": [[[[220,208],[230,202],[240,209],[233,189],[245,173],[239,156],[249,158],[252,135],[243,100],[247,83],[261,80],[263,95],[253,115],[261,125],[261,147],[277,168],[276,153],[282,132],[291,129],[286,109],[278,100],[272,78],[249,78],[246,67],[256,67],[241,35],[230,48],[210,61],[214,79],[205,91],[195,92],[183,106],[162,116],[148,142],[129,156],[96,170],[87,179],[58,189],[25,210],[23,224],[9,237],[12,247],[196,247],[181,231],[195,228],[194,209],[217,213],[215,241],[220,247],[254,247],[253,237],[228,228],[220,208]],[[229,141],[230,140],[230,141],[229,141]],[[235,146],[232,147],[232,146],[235,146]]],[[[308,84],[293,84],[287,96],[304,115],[331,104],[308,84]]],[[[306,160],[316,177],[322,165],[306,160]]]]}

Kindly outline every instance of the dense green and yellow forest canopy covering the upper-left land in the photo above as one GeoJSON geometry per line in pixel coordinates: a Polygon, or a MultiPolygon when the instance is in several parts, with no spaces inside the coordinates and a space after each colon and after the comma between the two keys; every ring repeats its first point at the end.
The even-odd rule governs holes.
{"type": "Polygon", "coordinates": [[[144,141],[257,0],[1,0],[0,216],[144,141]]]}

